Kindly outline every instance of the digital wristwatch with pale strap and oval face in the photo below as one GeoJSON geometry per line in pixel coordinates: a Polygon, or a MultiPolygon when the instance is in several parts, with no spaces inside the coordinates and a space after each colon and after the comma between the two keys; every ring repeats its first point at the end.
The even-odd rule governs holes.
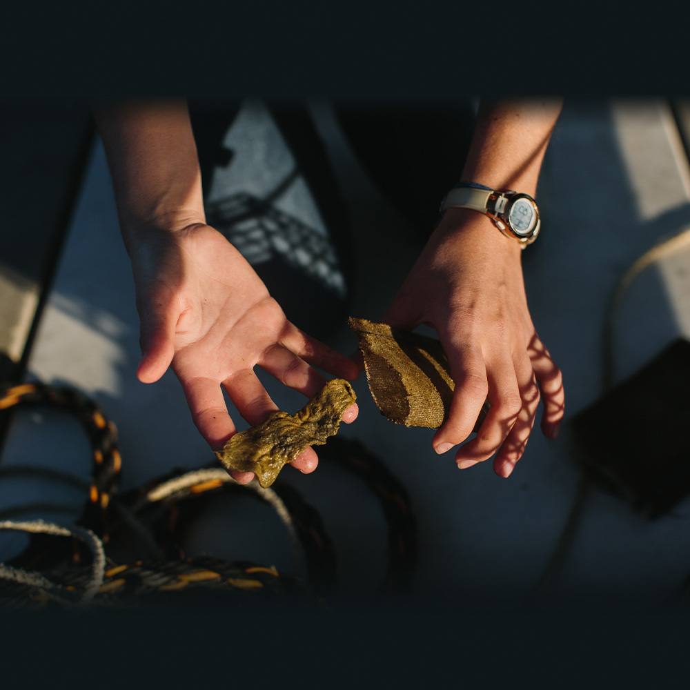
{"type": "Polygon", "coordinates": [[[475,182],[461,182],[446,194],[440,213],[446,208],[471,208],[484,213],[506,237],[517,239],[522,249],[532,244],[539,234],[539,208],[529,194],[497,191],[475,182]]]}

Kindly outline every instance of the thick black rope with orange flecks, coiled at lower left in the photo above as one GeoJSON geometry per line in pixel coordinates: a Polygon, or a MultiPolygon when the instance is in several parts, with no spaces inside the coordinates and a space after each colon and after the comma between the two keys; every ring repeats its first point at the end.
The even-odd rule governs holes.
{"type": "MultiPolygon", "coordinates": [[[[73,388],[56,388],[41,383],[0,386],[0,415],[17,406],[57,408],[81,422],[92,446],[92,473],[79,524],[101,538],[106,546],[106,555],[124,543],[128,546],[135,544],[139,549],[137,540],[133,538],[132,524],[155,547],[146,552],[141,546],[147,553],[146,558],[135,557],[126,563],[111,560],[95,597],[96,604],[132,602],[141,598],[168,600],[171,593],[176,592],[244,592],[260,598],[304,595],[307,591],[320,598],[335,593],[335,547],[321,515],[302,499],[294,486],[278,481],[272,489],[287,509],[306,555],[306,584],[295,575],[279,573],[273,566],[225,562],[210,557],[186,558],[179,549],[182,532],[199,514],[205,500],[218,493],[246,491],[246,487],[231,481],[201,480],[184,486],[154,506],[147,498],[150,490],[186,472],[176,471],[141,489],[117,495],[121,472],[117,429],[100,406],[73,388]]],[[[357,475],[380,501],[388,523],[388,569],[382,586],[394,591],[408,588],[417,560],[417,538],[415,516],[404,487],[384,463],[368,453],[359,442],[333,438],[320,449],[319,454],[357,475]]],[[[88,554],[76,541],[68,549],[64,548],[64,543],[56,546],[54,539],[34,535],[29,548],[12,565],[48,573],[63,587],[68,600],[71,592],[78,591],[79,582],[88,570],[88,554]]],[[[32,605],[50,604],[50,597],[45,593],[30,588],[25,590],[17,583],[0,582],[0,604],[22,597],[32,605]]]]}

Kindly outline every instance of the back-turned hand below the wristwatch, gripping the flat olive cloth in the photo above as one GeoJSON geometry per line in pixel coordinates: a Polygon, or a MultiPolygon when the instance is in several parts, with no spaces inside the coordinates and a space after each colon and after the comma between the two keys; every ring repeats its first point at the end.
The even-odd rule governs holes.
{"type": "Polygon", "coordinates": [[[508,477],[524,453],[541,397],[541,428],[555,438],[564,410],[562,375],[527,308],[520,245],[486,216],[451,208],[428,240],[382,322],[436,329],[455,382],[447,419],[433,437],[445,453],[469,437],[486,398],[477,436],[456,453],[461,469],[495,455],[508,477]]]}

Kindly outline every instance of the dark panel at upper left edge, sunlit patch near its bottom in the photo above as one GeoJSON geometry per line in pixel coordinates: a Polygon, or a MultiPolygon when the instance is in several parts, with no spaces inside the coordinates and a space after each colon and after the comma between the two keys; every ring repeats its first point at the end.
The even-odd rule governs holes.
{"type": "Polygon", "coordinates": [[[24,347],[55,268],[91,135],[90,114],[80,101],[8,99],[0,108],[3,379],[21,375],[24,347]]]}

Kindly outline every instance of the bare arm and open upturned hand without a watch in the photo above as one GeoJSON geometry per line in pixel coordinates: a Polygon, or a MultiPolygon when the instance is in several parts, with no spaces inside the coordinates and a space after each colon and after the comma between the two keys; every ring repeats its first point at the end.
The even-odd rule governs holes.
{"type": "MultiPolygon", "coordinates": [[[[244,257],[206,225],[199,161],[186,103],[95,108],[137,290],[143,356],[137,376],[157,381],[172,366],[199,432],[220,450],[235,431],[223,388],[249,424],[277,406],[257,379],[261,366],[306,396],[357,367],[288,322],[244,257]],[[313,365],[313,366],[312,366],[313,365]]],[[[351,422],[357,406],[343,419],[351,422]]],[[[308,472],[308,448],[293,466],[308,472]]],[[[233,473],[240,482],[251,473],[233,473]]]]}

